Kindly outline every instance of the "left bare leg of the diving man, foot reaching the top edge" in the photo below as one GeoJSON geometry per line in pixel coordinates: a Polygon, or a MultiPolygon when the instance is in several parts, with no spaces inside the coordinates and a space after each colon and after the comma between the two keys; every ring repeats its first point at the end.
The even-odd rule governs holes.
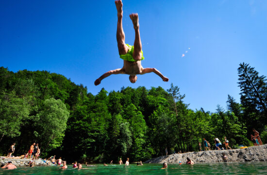
{"type": "Polygon", "coordinates": [[[117,8],[117,44],[118,44],[118,53],[119,54],[126,54],[129,50],[128,46],[125,44],[125,35],[122,29],[122,1],[116,0],[115,1],[116,8],[117,8]]]}

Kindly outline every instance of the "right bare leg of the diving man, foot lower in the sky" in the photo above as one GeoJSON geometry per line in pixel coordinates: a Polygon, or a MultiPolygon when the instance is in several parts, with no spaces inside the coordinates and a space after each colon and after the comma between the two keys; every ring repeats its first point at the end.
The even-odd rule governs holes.
{"type": "Polygon", "coordinates": [[[134,31],[135,31],[135,39],[134,39],[134,53],[133,57],[136,61],[141,60],[141,50],[142,50],[142,43],[140,39],[140,32],[139,32],[139,19],[138,14],[131,14],[130,18],[133,21],[134,24],[134,31]]]}

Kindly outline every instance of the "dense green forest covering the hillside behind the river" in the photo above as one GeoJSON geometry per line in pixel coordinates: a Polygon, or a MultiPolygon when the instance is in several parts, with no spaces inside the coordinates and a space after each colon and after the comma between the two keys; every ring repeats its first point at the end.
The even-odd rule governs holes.
{"type": "MultiPolygon", "coordinates": [[[[267,143],[267,80],[248,64],[237,70],[240,104],[225,97],[227,109],[192,110],[171,84],[122,87],[93,95],[63,75],[0,68],[0,155],[16,142],[14,155],[39,143],[41,156],[103,162],[119,157],[146,160],[169,152],[197,151],[198,142],[226,136],[230,146],[253,145],[252,128],[267,143]]],[[[93,86],[93,85],[92,85],[93,86]]],[[[219,92],[218,92],[219,93],[219,92]]]]}

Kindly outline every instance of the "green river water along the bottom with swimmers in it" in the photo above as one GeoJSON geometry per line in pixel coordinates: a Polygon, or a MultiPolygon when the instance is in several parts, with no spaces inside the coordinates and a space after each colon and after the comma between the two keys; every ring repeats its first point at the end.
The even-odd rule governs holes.
{"type": "Polygon", "coordinates": [[[194,165],[169,164],[167,169],[161,169],[162,164],[130,164],[103,166],[96,164],[88,169],[73,169],[68,166],[60,170],[56,166],[18,167],[16,170],[0,170],[0,175],[267,175],[267,162],[244,163],[203,163],[194,165]]]}

